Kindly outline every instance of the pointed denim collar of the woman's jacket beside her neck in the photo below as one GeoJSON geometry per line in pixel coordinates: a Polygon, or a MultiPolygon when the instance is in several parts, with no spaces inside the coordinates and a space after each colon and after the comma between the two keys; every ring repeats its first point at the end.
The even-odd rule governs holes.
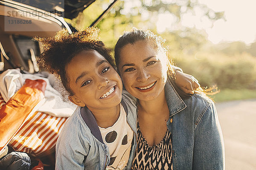
{"type": "Polygon", "coordinates": [[[165,94],[172,94],[172,95],[166,95],[167,103],[172,104],[172,105],[168,105],[168,108],[170,111],[170,117],[175,115],[176,113],[179,113],[180,111],[182,111],[187,107],[185,102],[180,98],[177,91],[172,86],[169,79],[167,79],[167,82],[165,85],[165,94]]]}

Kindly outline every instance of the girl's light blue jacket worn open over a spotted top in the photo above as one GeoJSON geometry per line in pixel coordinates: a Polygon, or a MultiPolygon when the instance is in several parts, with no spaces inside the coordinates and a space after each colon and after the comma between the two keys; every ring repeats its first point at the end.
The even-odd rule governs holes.
{"type": "MultiPolygon", "coordinates": [[[[126,169],[131,169],[137,147],[137,111],[135,98],[122,93],[122,105],[127,122],[134,131],[130,157],[126,169]]],[[[87,107],[77,107],[65,122],[56,144],[55,170],[105,170],[110,162],[109,149],[102,140],[96,120],[87,107]]]]}

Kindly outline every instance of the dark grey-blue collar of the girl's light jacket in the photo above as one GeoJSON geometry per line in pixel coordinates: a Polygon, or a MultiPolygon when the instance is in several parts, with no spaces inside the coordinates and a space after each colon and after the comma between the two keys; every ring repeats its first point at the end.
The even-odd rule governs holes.
{"type": "MultiPolygon", "coordinates": [[[[121,104],[122,104],[123,108],[125,109],[126,114],[128,115],[128,108],[123,100],[121,101],[121,104]]],[[[93,116],[93,113],[86,106],[81,107],[80,113],[81,113],[81,116],[82,116],[84,122],[86,123],[86,125],[89,127],[91,133],[93,134],[93,136],[96,139],[98,139],[99,142],[102,142],[104,144],[102,135],[100,133],[96,119],[93,116]]]]}

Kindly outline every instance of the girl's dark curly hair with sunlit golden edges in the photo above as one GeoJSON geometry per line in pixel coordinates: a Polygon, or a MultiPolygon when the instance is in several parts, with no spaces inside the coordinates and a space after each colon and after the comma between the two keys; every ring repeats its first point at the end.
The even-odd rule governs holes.
{"type": "Polygon", "coordinates": [[[69,34],[67,29],[62,29],[54,37],[34,37],[33,40],[41,42],[43,46],[44,52],[38,59],[39,68],[57,74],[69,95],[74,94],[68,84],[66,66],[76,54],[84,50],[95,50],[114,67],[110,50],[105,48],[104,43],[99,40],[99,28],[86,28],[84,31],[73,34],[69,34]]]}

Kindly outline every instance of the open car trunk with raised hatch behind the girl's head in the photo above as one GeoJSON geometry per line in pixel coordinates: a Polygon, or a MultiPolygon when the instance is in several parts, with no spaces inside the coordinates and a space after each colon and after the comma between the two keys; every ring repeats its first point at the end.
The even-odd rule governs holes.
{"type": "MultiPolygon", "coordinates": [[[[90,26],[95,26],[114,3],[90,26]]],[[[65,18],[73,19],[95,0],[0,0],[0,71],[20,68],[37,72],[36,58],[41,54],[40,44],[32,37],[50,37],[62,28],[72,33],[75,28],[65,18]]]]}

